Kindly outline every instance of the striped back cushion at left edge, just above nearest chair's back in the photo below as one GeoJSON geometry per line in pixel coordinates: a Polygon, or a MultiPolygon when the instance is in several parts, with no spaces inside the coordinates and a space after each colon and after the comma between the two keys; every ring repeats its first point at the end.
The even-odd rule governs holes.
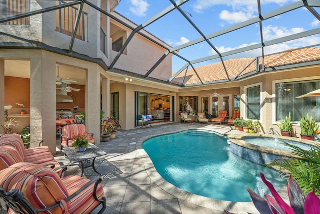
{"type": "Polygon", "coordinates": [[[9,167],[10,165],[22,162],[21,155],[12,145],[0,146],[0,170],[9,167]]]}

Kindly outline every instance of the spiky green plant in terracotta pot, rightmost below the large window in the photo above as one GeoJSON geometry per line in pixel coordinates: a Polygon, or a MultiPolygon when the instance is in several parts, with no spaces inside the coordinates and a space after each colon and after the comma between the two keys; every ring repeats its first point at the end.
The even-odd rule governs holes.
{"type": "Polygon", "coordinates": [[[302,139],[312,140],[314,134],[319,129],[319,125],[316,125],[315,120],[312,116],[309,117],[308,114],[306,114],[306,117],[302,117],[300,119],[300,128],[301,133],[300,136],[302,139]]]}

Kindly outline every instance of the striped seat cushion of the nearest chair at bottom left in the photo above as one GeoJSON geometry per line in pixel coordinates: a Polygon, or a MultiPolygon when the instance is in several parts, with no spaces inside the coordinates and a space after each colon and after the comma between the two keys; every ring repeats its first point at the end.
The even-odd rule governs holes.
{"type": "MultiPolygon", "coordinates": [[[[68,175],[61,178],[66,189],[69,192],[69,195],[74,193],[76,190],[81,188],[89,180],[78,175],[68,175]]],[[[94,199],[93,192],[94,183],[89,185],[81,193],[77,194],[70,200],[69,211],[70,213],[89,213],[99,202],[94,199]]],[[[96,195],[98,199],[103,197],[103,187],[101,184],[98,184],[96,189],[96,195]]]]}

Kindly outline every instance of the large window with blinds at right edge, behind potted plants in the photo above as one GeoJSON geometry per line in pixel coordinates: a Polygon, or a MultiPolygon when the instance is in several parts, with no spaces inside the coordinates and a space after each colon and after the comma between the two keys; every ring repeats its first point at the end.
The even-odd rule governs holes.
{"type": "Polygon", "coordinates": [[[320,122],[320,96],[308,96],[307,93],[320,88],[320,80],[298,81],[275,84],[276,121],[291,114],[293,122],[301,117],[312,116],[320,122]]]}

